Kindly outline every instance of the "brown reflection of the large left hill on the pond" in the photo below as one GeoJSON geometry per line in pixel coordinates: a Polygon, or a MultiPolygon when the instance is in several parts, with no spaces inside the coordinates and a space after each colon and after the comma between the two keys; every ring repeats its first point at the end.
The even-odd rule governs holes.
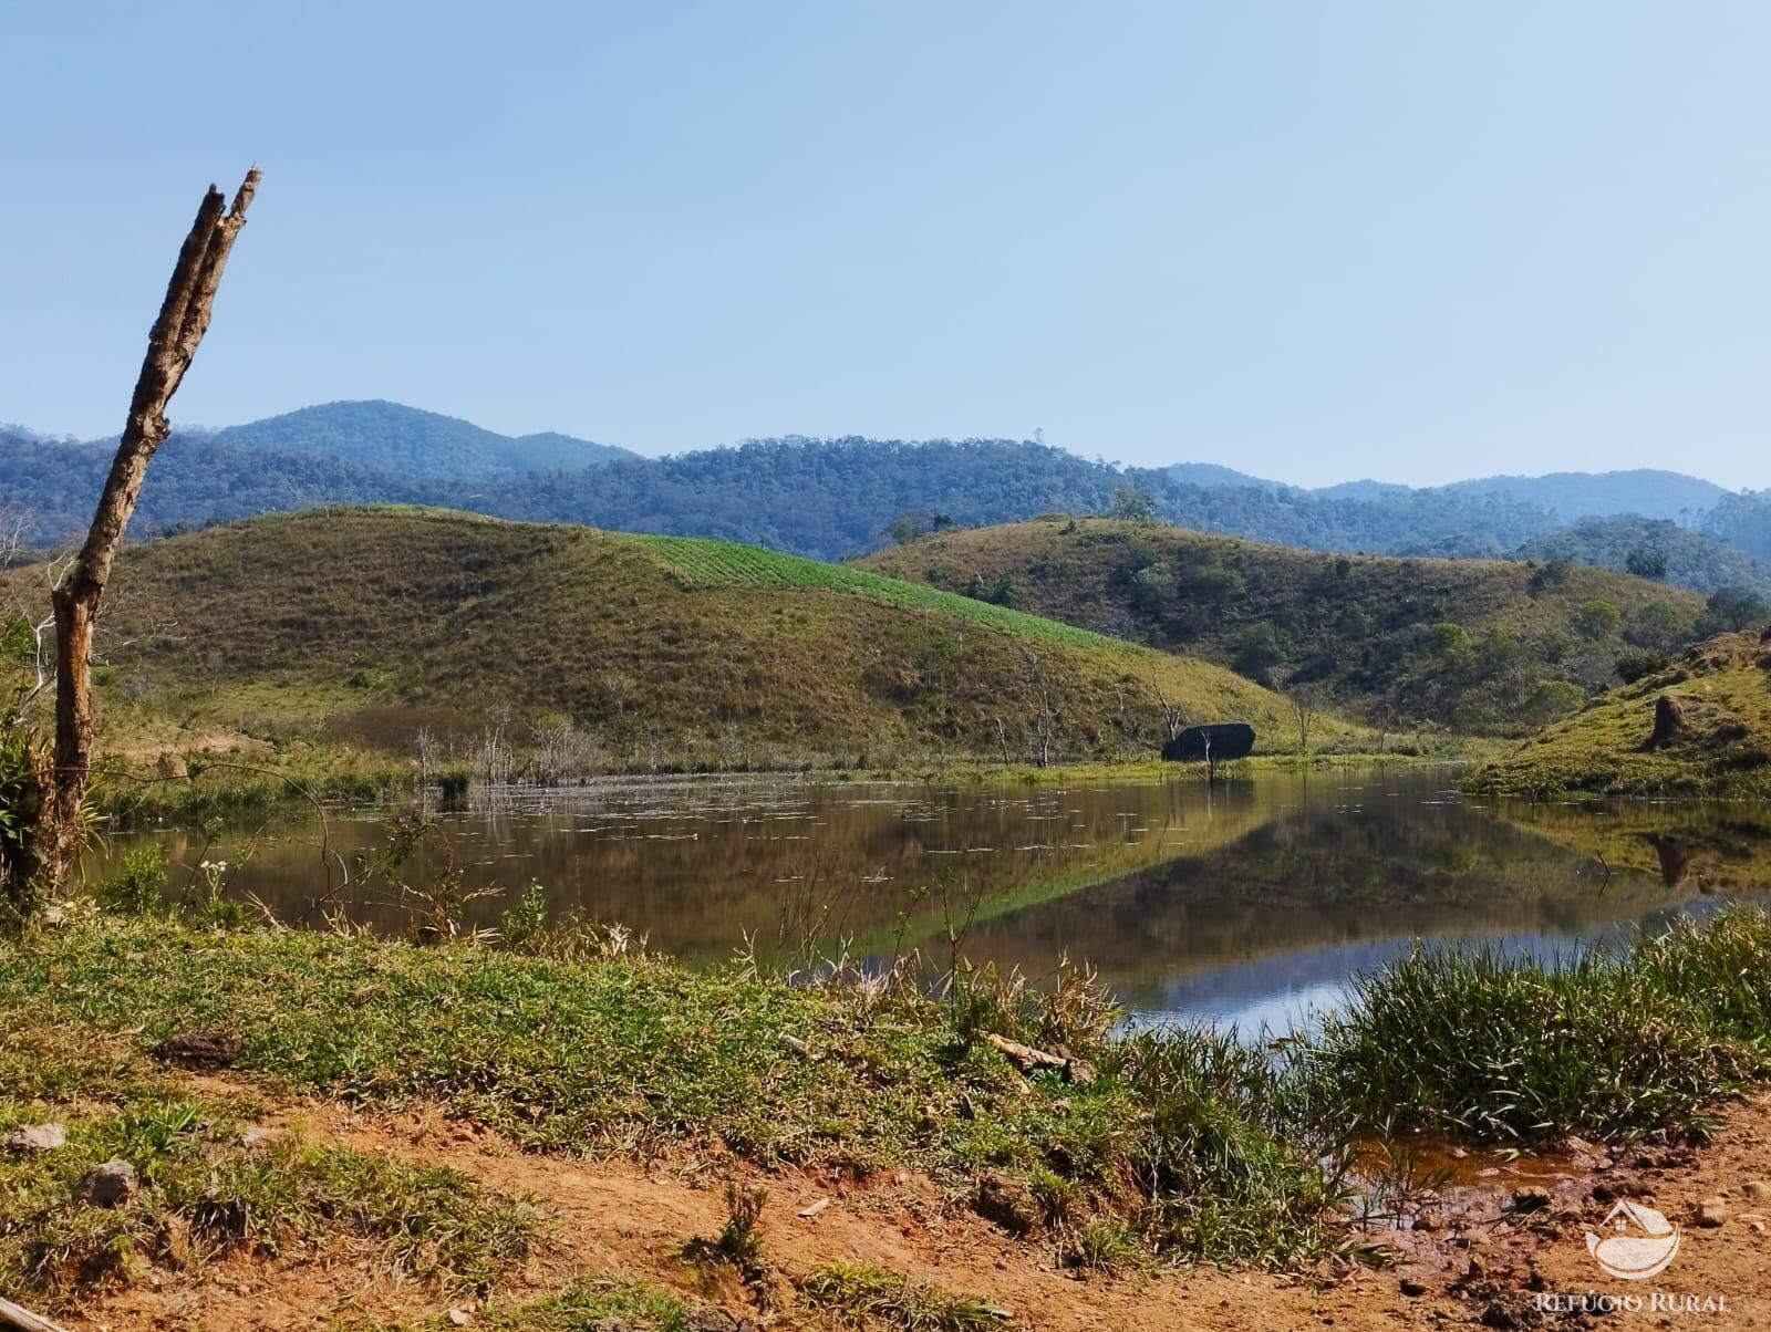
{"type": "MultiPolygon", "coordinates": [[[[535,879],[556,914],[620,921],[664,951],[721,958],[746,932],[763,951],[783,935],[797,941],[816,916],[827,937],[889,939],[901,912],[928,928],[939,919],[933,902],[942,886],[978,894],[985,914],[1073,893],[1240,838],[1295,799],[1286,778],[1211,792],[1203,783],[1015,790],[629,783],[445,817],[446,848],[437,840],[404,875],[429,882],[453,857],[469,887],[515,891],[535,879]],[[916,889],[937,891],[916,896],[916,889]]],[[[324,884],[319,829],[296,820],[275,834],[236,887],[296,919],[324,884]]],[[[174,863],[202,850],[197,834],[161,836],[174,863]]],[[[347,863],[388,841],[374,817],[338,818],[328,836],[347,863]]],[[[115,850],[129,845],[120,840],[115,850]]],[[[345,905],[375,928],[406,926],[386,893],[347,894],[345,905]]],[[[501,905],[478,902],[475,923],[492,923],[501,905]]]]}

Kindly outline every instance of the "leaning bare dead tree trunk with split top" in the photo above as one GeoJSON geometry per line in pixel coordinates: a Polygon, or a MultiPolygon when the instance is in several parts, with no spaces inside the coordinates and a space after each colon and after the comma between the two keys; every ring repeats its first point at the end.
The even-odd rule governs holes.
{"type": "Polygon", "coordinates": [[[87,530],[87,540],[74,563],[57,585],[55,604],[55,769],[43,801],[43,843],[39,873],[44,887],[55,891],[67,882],[80,854],[80,806],[92,776],[92,623],[104,599],[117,547],[142,494],[149,459],[165,441],[166,404],[179,391],[191,367],[197,344],[204,340],[221,269],[227,266],[234,237],[246,225],[246,205],[259,188],[259,168],[246,172],[234,205],[209,186],[191,234],[184,237],[179,262],[166,283],[166,299],[147,335],[147,356],[135,381],[129,420],[122,427],[117,457],[99,505],[87,530]]]}

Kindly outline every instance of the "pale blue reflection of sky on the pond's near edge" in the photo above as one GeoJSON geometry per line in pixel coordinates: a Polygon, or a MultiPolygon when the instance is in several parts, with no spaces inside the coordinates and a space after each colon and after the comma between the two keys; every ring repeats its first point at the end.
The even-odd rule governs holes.
{"type": "MultiPolygon", "coordinates": [[[[1532,956],[1555,965],[1569,962],[1590,944],[1620,944],[1638,932],[1654,933],[1679,916],[1707,919],[1723,905],[1723,898],[1691,898],[1679,907],[1651,912],[1638,921],[1615,921],[1580,935],[1530,932],[1445,935],[1431,941],[1429,946],[1488,949],[1505,956],[1532,956]]],[[[1217,1027],[1234,1027],[1247,1036],[1263,1033],[1284,1036],[1309,1027],[1314,1015],[1339,1008],[1346,987],[1355,976],[1406,956],[1413,946],[1413,939],[1374,939],[1194,971],[1164,981],[1155,992],[1126,995],[1126,1001],[1135,1008],[1130,1026],[1210,1022],[1217,1027]]]]}

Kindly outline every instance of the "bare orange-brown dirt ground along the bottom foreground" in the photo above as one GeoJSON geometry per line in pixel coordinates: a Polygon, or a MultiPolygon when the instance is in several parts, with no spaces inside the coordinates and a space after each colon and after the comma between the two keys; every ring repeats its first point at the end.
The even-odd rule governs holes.
{"type": "MultiPolygon", "coordinates": [[[[237,1082],[193,1077],[207,1091],[237,1082]]],[[[264,1102],[262,1088],[251,1088],[264,1102]]],[[[1555,1158],[1472,1164],[1465,1181],[1415,1199],[1406,1219],[1364,1240],[1392,1252],[1387,1266],[1325,1263],[1307,1275],[1218,1270],[1100,1275],[1064,1270],[1048,1245],[1013,1240],[944,1196],[930,1180],[880,1173],[864,1181],[808,1173],[762,1174],[731,1158],[664,1164],[586,1162],[530,1155],[436,1112],[363,1114],[319,1102],[283,1102],[266,1118],[312,1139],[448,1164],[505,1192],[533,1197],[551,1217],[542,1258],[498,1291],[503,1304],[538,1298],[576,1277],[627,1275],[721,1305],[737,1323],[804,1327],[788,1281],[831,1261],[866,1261],[1008,1311],[1008,1327],[1082,1328],[1410,1328],[1410,1327],[1690,1327],[1771,1328],[1771,1096],[1736,1105],[1716,1137],[1695,1150],[1647,1148],[1605,1157],[1574,1144],[1555,1158]],[[774,1311],[735,1279],[684,1259],[694,1236],[717,1235],[721,1185],[767,1185],[767,1259],[779,1274],[774,1311]],[[1681,1227],[1674,1263],[1647,1281],[1608,1277],[1587,1251],[1617,1199],[1663,1212],[1681,1227]],[[816,1208],[824,1199],[827,1204],[816,1208]],[[1720,1199],[1720,1201],[1718,1201],[1720,1199]],[[1709,1220],[1698,1208],[1709,1201],[1709,1220]],[[813,1215],[800,1215],[813,1212],[813,1215]],[[1654,1297],[1659,1297],[1656,1300],[1654,1297]],[[1566,1305],[1635,1300],[1603,1313],[1566,1305]],[[1672,1307],[1668,1307],[1672,1300],[1672,1307]],[[1695,1304],[1693,1304],[1695,1302],[1695,1304]],[[1705,1304],[1707,1302],[1707,1304],[1705,1304]],[[1557,1305],[1564,1307],[1557,1307],[1557,1305]]],[[[368,1318],[411,1320],[473,1302],[377,1272],[367,1254],[273,1261],[236,1259],[197,1274],[154,1272],[66,1318],[67,1328],[324,1327],[368,1318]]]]}

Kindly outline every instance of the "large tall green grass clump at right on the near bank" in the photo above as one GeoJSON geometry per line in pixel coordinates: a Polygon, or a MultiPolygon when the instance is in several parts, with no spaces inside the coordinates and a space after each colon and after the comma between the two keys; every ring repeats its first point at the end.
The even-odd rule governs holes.
{"type": "Polygon", "coordinates": [[[1300,1061],[1326,1114],[1534,1144],[1702,1130],[1767,1072],[1771,918],[1732,909],[1566,967],[1417,948],[1364,978],[1300,1061]]]}

